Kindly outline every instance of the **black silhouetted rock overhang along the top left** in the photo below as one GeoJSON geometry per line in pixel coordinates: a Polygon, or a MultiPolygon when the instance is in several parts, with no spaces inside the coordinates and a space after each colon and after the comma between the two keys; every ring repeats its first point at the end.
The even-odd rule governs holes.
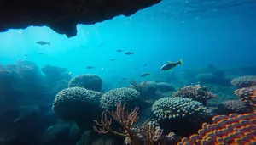
{"type": "Polygon", "coordinates": [[[28,26],[49,26],[67,37],[77,35],[76,25],[93,25],[118,15],[130,16],[161,0],[2,0],[0,32],[28,26]]]}

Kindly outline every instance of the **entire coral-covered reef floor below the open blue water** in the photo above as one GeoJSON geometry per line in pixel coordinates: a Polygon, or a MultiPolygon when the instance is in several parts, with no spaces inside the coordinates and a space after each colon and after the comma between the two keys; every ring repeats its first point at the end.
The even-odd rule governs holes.
{"type": "MultiPolygon", "coordinates": [[[[8,113],[15,112],[13,116],[9,114],[9,118],[3,120],[12,123],[7,123],[6,126],[0,124],[5,132],[19,124],[24,126],[22,122],[32,118],[33,123],[30,124],[37,126],[34,128],[42,126],[39,123],[41,120],[47,124],[44,127],[55,124],[45,128],[44,134],[41,133],[42,142],[55,140],[58,132],[64,135],[62,132],[67,131],[68,137],[78,136],[74,139],[77,145],[88,145],[91,144],[90,139],[102,137],[112,138],[117,144],[125,142],[127,145],[256,143],[256,76],[233,79],[230,92],[235,90],[234,99],[216,103],[214,100],[218,100],[221,94],[213,93],[211,87],[200,83],[176,90],[167,82],[131,81],[130,86],[102,91],[103,81],[98,75],[77,75],[71,79],[66,69],[49,65],[44,66],[41,71],[44,76],[40,75],[37,65],[28,61],[18,61],[0,69],[0,86],[4,88],[0,92],[4,98],[0,100],[0,108],[2,111],[11,108],[8,113]],[[49,85],[41,86],[38,83],[40,81],[49,85]],[[14,86],[22,89],[14,90],[14,86]],[[47,110],[43,99],[49,99],[49,96],[45,97],[44,93],[38,92],[49,92],[53,97],[48,102],[58,119],[53,120],[53,116],[46,118],[49,113],[41,115],[42,111],[47,110]],[[29,104],[32,101],[32,105],[21,106],[16,111],[15,106],[20,105],[17,96],[23,96],[20,103],[29,104]],[[4,101],[9,102],[9,106],[4,106],[7,104],[4,101]],[[213,107],[212,104],[209,105],[212,102],[215,104],[213,107]]],[[[51,114],[52,110],[50,109],[51,114]]],[[[32,136],[34,128],[31,131],[27,128],[26,133],[4,134],[7,136],[4,142],[14,138],[21,142],[29,131],[32,136]]],[[[15,128],[11,129],[15,131],[15,128]]],[[[1,131],[0,135],[1,144],[1,131]]],[[[105,143],[105,140],[101,142],[105,143]]],[[[109,145],[114,142],[110,140],[109,145]]]]}

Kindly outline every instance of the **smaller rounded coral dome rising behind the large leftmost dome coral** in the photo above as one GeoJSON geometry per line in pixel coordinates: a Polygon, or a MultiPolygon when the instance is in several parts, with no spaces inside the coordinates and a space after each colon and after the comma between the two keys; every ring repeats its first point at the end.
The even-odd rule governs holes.
{"type": "Polygon", "coordinates": [[[93,74],[77,75],[68,83],[68,87],[84,87],[98,92],[102,90],[102,85],[102,78],[93,74]]]}

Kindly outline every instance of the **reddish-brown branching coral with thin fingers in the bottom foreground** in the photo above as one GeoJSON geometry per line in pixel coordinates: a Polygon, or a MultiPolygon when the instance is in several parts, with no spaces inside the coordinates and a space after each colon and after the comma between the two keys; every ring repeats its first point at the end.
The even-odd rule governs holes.
{"type": "Polygon", "coordinates": [[[96,120],[97,128],[94,126],[94,130],[99,134],[105,134],[112,132],[114,135],[125,137],[125,144],[128,145],[154,145],[155,143],[161,144],[162,142],[173,143],[177,141],[177,137],[174,133],[163,135],[163,130],[159,125],[152,122],[144,122],[143,125],[133,126],[138,120],[138,108],[131,109],[131,112],[125,111],[125,104],[117,103],[116,111],[103,111],[101,123],[96,120]],[[112,118],[108,119],[109,114],[113,120],[117,121],[120,125],[119,131],[113,131],[111,124],[112,118]]]}

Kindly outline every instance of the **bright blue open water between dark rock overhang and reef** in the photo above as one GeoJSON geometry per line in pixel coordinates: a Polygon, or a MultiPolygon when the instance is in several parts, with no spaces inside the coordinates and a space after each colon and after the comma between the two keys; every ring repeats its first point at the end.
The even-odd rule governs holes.
{"type": "MultiPolygon", "coordinates": [[[[197,73],[210,64],[229,79],[240,76],[236,70],[241,68],[249,68],[241,75],[256,75],[255,14],[255,0],[164,0],[130,17],[77,25],[78,35],[71,38],[47,26],[9,30],[0,33],[0,65],[28,60],[39,68],[46,64],[67,68],[72,76],[96,74],[104,91],[129,86],[131,80],[155,81],[166,73],[160,70],[163,64],[179,59],[183,64],[167,71],[170,77],[197,73]],[[141,77],[143,73],[150,75],[141,77]]],[[[179,87],[195,83],[175,78],[168,83],[179,87]]]]}

